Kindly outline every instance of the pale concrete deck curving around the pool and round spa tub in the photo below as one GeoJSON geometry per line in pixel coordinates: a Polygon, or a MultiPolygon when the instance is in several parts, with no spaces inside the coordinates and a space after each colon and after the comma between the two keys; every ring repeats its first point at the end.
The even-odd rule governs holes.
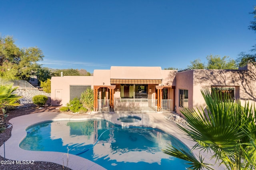
{"type": "MultiPolygon", "coordinates": [[[[186,135],[178,128],[175,123],[166,121],[164,117],[168,113],[141,113],[135,114],[142,118],[139,122],[123,123],[117,119],[121,116],[133,115],[132,113],[92,113],[90,115],[68,115],[57,112],[41,112],[29,115],[15,117],[9,122],[12,123],[12,136],[5,142],[5,158],[10,160],[34,160],[54,162],[60,165],[67,166],[73,170],[104,170],[102,166],[73,154],[63,152],[49,152],[49,151],[30,151],[19,147],[20,142],[26,137],[26,128],[30,125],[42,121],[60,121],[60,120],[86,120],[86,119],[106,119],[113,123],[123,126],[146,126],[158,128],[173,135],[182,141],[189,148],[193,147],[194,143],[186,139],[186,135]],[[68,162],[67,162],[68,160],[68,162]]],[[[4,157],[4,145],[0,147],[0,155],[4,157]]]]}

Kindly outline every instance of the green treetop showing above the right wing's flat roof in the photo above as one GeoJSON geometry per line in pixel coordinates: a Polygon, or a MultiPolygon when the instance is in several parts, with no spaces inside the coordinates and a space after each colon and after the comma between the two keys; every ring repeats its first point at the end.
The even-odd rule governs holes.
{"type": "Polygon", "coordinates": [[[218,55],[209,55],[206,57],[207,64],[201,62],[200,59],[191,61],[189,69],[237,69],[236,61],[229,59],[228,56],[220,57],[218,55]]]}

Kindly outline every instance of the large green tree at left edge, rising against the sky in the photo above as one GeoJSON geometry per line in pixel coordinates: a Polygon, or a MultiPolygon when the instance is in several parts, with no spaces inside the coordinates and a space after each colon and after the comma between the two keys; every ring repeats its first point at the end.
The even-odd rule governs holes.
{"type": "Polygon", "coordinates": [[[11,36],[0,37],[0,77],[29,80],[35,75],[44,55],[38,47],[20,49],[11,36]]]}

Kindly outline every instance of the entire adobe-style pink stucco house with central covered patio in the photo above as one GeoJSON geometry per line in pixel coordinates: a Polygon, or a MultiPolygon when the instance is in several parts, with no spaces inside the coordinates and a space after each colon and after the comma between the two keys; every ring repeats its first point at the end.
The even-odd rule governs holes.
{"type": "Polygon", "coordinates": [[[65,106],[86,88],[94,90],[94,111],[164,112],[204,108],[201,89],[228,93],[232,99],[256,99],[252,67],[238,70],[162,70],[161,67],[112,66],[93,76],[51,79],[53,106],[65,106]],[[250,69],[248,69],[250,68],[250,69]]]}

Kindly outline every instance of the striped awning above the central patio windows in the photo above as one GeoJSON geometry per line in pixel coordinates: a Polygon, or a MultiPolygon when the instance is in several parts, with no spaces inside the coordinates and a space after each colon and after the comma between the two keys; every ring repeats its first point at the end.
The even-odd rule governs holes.
{"type": "Polygon", "coordinates": [[[161,84],[159,79],[110,79],[110,84],[161,84]]]}

